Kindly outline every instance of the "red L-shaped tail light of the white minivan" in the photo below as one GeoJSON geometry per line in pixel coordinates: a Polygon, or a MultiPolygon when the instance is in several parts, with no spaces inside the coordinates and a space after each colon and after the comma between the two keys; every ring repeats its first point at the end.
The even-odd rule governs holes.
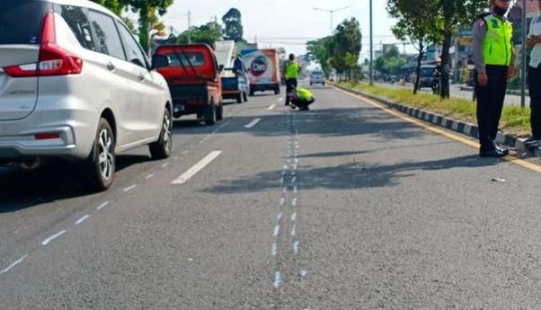
{"type": "Polygon", "coordinates": [[[54,13],[47,13],[43,20],[38,63],[4,67],[13,77],[77,75],[82,71],[83,59],[57,44],[54,13]]]}

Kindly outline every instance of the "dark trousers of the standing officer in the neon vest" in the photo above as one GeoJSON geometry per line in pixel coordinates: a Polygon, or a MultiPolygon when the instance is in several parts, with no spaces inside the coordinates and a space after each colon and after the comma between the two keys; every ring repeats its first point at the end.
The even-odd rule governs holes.
{"type": "Polygon", "coordinates": [[[492,151],[494,140],[498,134],[501,109],[507,90],[507,66],[485,66],[488,84],[477,84],[475,72],[475,87],[477,92],[477,124],[479,125],[479,143],[481,152],[492,151]]]}

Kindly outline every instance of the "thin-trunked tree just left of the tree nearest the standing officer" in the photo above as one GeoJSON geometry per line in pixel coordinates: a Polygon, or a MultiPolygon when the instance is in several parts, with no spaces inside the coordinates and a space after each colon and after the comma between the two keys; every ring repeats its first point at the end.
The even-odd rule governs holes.
{"type": "Polygon", "coordinates": [[[409,39],[419,51],[413,93],[419,89],[421,60],[427,44],[442,40],[442,19],[438,14],[426,13],[433,12],[436,4],[434,0],[387,0],[387,12],[398,20],[392,28],[395,37],[399,40],[409,39]]]}

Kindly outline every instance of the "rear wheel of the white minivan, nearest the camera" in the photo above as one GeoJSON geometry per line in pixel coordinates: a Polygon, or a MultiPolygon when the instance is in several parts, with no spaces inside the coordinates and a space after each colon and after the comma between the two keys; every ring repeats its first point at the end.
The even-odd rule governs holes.
{"type": "Polygon", "coordinates": [[[85,175],[90,189],[109,189],[115,177],[115,137],[111,125],[103,118],[98,125],[91,157],[93,160],[87,167],[88,174],[85,175]]]}

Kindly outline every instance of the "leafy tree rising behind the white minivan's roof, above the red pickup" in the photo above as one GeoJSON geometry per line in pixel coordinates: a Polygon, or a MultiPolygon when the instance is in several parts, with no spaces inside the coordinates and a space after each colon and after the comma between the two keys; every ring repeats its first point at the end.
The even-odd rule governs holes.
{"type": "MultiPolygon", "coordinates": [[[[105,0],[108,1],[108,0],[105,0]]],[[[167,12],[167,8],[173,4],[174,0],[118,0],[120,4],[128,6],[134,13],[139,14],[139,43],[143,49],[150,53],[150,31],[159,31],[160,22],[157,14],[160,16],[167,12]],[[157,13],[157,14],[156,14],[157,13]]]]}

